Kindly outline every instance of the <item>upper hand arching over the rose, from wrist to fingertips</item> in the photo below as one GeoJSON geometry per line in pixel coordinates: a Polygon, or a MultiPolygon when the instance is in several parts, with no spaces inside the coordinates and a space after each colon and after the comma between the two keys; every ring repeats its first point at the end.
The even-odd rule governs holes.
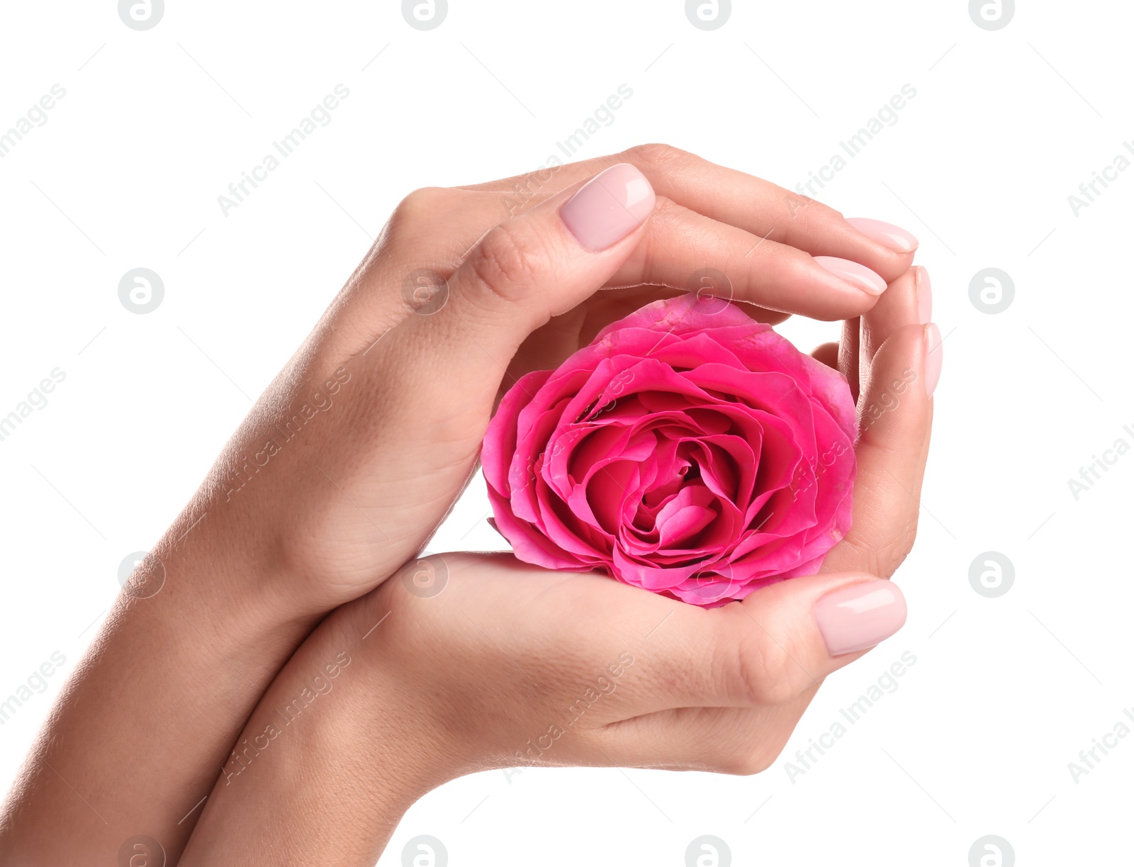
{"type": "Polygon", "coordinates": [[[496,401],[524,372],[675,291],[727,293],[763,319],[856,317],[908,268],[914,244],[661,145],[420,190],[159,554],[179,556],[174,540],[208,514],[191,547],[205,545],[230,573],[251,564],[272,604],[327,611],[420,550],[467,483],[496,401]]]}

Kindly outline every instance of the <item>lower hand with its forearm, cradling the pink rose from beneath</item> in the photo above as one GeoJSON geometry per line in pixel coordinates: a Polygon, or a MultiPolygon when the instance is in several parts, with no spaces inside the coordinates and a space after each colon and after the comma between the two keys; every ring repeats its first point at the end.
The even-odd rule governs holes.
{"type": "Polygon", "coordinates": [[[768,767],[823,677],[905,620],[866,571],[890,575],[914,541],[941,363],[929,314],[911,269],[846,328],[844,370],[865,384],[855,524],[821,574],[703,609],[507,555],[412,562],[277,677],[181,864],[371,865],[416,798],[492,767],[768,767]]]}

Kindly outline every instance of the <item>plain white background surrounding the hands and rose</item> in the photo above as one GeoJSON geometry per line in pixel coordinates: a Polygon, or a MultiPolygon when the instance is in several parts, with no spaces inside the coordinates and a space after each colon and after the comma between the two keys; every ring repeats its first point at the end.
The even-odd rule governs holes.
{"type": "MultiPolygon", "coordinates": [[[[1077,500],[1067,480],[1134,444],[1134,171],[1077,216],[1067,196],[1134,136],[1134,14],[1022,7],[989,32],[960,1],[743,3],[705,32],[672,0],[451,0],[418,32],[395,2],[197,0],[135,32],[105,0],[6,3],[0,129],[53,84],[66,96],[0,159],[0,415],[53,368],[66,380],[0,441],[0,698],[52,651],[67,662],[0,727],[0,785],[119,562],[181,508],[405,193],[543,165],[620,84],[633,96],[579,157],[665,141],[794,186],[911,84],[819,196],[920,237],[947,335],[921,533],[895,579],[905,629],[829,679],[759,776],[481,774],[416,805],[381,864],[416,834],[452,865],[680,865],[701,834],[737,865],[963,867],[985,834],[1021,865],[1118,862],[1134,738],[1077,783],[1067,765],[1134,706],[1134,456],[1077,500]],[[223,216],[217,196],[340,83],[332,121],[223,216]],[[145,315],[118,300],[137,267],[166,287],[145,315]],[[988,267],[1015,284],[998,314],[970,301],[988,267]],[[988,550],[1015,567],[999,598],[968,580],[988,550]],[[792,782],[795,750],[905,650],[898,689],[792,782]]],[[[785,330],[806,348],[836,334],[785,330]]],[[[485,511],[477,481],[430,548],[500,547],[485,511]]]]}

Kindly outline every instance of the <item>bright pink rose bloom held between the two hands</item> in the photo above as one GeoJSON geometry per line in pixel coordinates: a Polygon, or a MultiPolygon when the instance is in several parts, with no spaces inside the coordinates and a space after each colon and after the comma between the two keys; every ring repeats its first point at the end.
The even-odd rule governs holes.
{"type": "Polygon", "coordinates": [[[850,528],[856,430],[838,371],[683,295],[523,377],[481,461],[519,559],[712,607],[819,569],[850,528]]]}

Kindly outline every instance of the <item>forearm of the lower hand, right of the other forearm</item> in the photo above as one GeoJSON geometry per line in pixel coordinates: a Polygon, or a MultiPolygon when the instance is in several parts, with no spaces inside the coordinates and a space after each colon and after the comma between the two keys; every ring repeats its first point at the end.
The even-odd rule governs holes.
{"type": "Polygon", "coordinates": [[[423,732],[375,658],[364,608],[359,600],[335,612],[272,683],[205,803],[183,867],[371,867],[406,809],[452,775],[440,751],[423,755],[423,743],[440,739],[423,732]]]}

